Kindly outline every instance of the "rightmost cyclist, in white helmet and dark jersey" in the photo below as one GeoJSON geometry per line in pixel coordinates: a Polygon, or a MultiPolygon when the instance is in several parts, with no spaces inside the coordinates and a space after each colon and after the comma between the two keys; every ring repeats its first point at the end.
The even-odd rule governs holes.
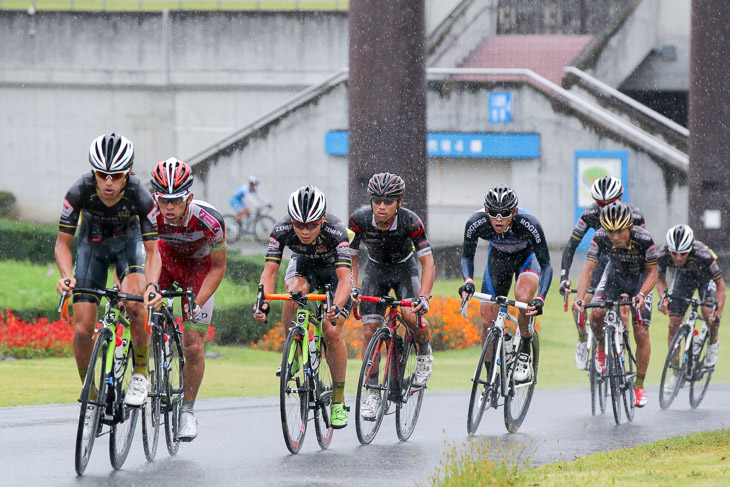
{"type": "MultiPolygon", "coordinates": [[[[660,298],[667,290],[666,274],[668,268],[674,269],[672,281],[672,297],[691,298],[695,289],[704,300],[717,299],[715,316],[710,316],[710,308],[702,308],[702,316],[710,328],[710,344],[707,346],[705,365],[715,365],[718,357],[718,329],[720,317],[725,307],[725,280],[722,277],[720,266],[717,265],[717,256],[704,243],[695,240],[694,232],[689,225],[677,225],[667,231],[667,244],[659,249],[657,257],[658,273],[657,293],[660,298]]],[[[669,336],[667,342],[671,345],[677,328],[682,323],[682,317],[687,312],[689,303],[680,300],[664,299],[658,303],[662,313],[669,312],[669,336]]],[[[671,394],[679,381],[676,375],[669,378],[664,384],[664,391],[671,394]]]]}

